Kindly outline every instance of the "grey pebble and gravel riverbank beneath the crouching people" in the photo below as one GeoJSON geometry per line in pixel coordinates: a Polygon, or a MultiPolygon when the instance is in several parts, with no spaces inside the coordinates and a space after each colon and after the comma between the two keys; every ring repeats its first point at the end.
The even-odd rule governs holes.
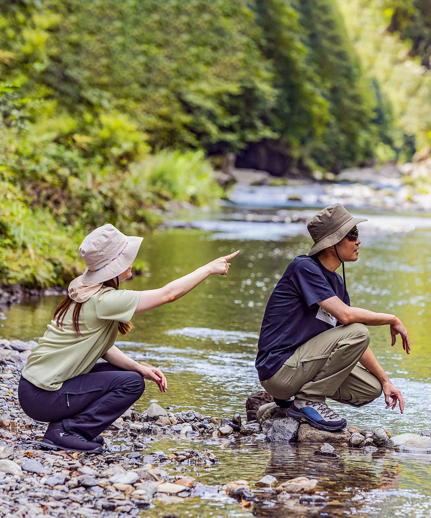
{"type": "Polygon", "coordinates": [[[219,421],[194,410],[173,413],[152,404],[145,412],[131,408],[117,419],[102,434],[105,448],[101,454],[43,451],[39,443],[46,424],[24,414],[17,394],[21,369],[35,344],[0,340],[0,516],[5,518],[133,516],[151,508],[157,500],[180,504],[184,499],[211,498],[220,493],[243,507],[262,498],[273,498],[282,505],[289,499],[289,506],[292,502],[329,503],[329,497],[314,494],[318,481],[307,477],[281,484],[271,475],[251,483],[201,483],[196,467],[218,467],[219,461],[204,447],[204,441],[198,448],[200,438],[234,437],[280,444],[323,442],[315,454],[327,457],[328,462],[347,447],[361,448],[367,454],[382,447],[431,451],[431,434],[426,433],[404,434],[409,437],[392,438],[390,443],[390,433],[380,427],[322,433],[308,425],[300,426],[287,417],[287,409],[276,407],[263,391],[247,399],[247,423],[239,414],[219,421]],[[162,437],[194,438],[196,449],[160,451],[157,442],[162,437]]]}

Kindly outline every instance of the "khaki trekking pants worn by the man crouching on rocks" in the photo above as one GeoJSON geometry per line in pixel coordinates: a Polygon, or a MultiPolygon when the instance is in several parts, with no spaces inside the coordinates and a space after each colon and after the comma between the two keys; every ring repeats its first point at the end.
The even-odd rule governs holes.
{"type": "Polygon", "coordinates": [[[382,393],[379,380],[356,365],[369,343],[364,324],[334,327],[303,343],[269,380],[265,391],[278,399],[326,397],[362,407],[382,393]]]}

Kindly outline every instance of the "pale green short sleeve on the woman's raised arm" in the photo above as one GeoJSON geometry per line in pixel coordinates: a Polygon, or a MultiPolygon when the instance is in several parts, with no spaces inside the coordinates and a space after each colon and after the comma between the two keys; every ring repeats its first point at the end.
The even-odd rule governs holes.
{"type": "Polygon", "coordinates": [[[131,290],[105,290],[96,299],[96,314],[100,320],[116,320],[127,324],[135,314],[141,292],[131,290]]]}

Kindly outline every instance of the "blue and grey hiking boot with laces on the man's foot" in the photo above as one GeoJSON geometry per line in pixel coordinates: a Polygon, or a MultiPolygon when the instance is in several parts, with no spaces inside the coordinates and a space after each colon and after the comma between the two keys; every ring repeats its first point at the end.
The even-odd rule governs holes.
{"type": "Polygon", "coordinates": [[[324,401],[295,399],[287,415],[319,430],[336,431],[347,426],[347,421],[340,418],[324,401]]]}

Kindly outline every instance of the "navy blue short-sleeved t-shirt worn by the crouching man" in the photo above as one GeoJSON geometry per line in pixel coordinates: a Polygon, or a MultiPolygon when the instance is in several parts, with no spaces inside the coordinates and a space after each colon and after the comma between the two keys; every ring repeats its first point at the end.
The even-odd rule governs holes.
{"type": "Polygon", "coordinates": [[[340,325],[317,304],[335,295],[350,306],[343,279],[317,255],[294,258],[266,305],[256,357],[260,381],[271,378],[304,342],[340,325]]]}

